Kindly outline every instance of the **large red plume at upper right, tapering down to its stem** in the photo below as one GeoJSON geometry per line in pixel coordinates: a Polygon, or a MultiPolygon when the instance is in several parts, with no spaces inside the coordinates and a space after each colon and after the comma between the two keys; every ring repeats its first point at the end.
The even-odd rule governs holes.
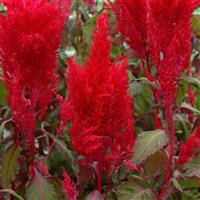
{"type": "Polygon", "coordinates": [[[191,55],[192,0],[147,1],[148,44],[157,68],[161,92],[171,104],[183,70],[189,67],[191,55]],[[178,52],[178,53],[177,53],[178,52]]]}

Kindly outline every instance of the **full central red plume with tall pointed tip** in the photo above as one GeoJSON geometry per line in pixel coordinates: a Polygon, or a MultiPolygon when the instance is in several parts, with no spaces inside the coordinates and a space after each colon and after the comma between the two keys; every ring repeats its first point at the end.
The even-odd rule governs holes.
{"type": "Polygon", "coordinates": [[[86,66],[73,60],[68,63],[69,97],[62,105],[72,120],[73,148],[87,163],[96,163],[99,190],[103,172],[111,176],[130,158],[134,144],[127,60],[120,64],[111,61],[108,34],[108,17],[104,14],[98,20],[86,66]]]}

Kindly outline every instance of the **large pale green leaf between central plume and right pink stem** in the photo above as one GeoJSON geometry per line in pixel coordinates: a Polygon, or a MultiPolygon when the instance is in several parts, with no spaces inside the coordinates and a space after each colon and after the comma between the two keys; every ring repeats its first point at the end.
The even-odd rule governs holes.
{"type": "Polygon", "coordinates": [[[164,130],[144,131],[138,135],[135,143],[134,163],[140,164],[168,143],[164,130]]]}

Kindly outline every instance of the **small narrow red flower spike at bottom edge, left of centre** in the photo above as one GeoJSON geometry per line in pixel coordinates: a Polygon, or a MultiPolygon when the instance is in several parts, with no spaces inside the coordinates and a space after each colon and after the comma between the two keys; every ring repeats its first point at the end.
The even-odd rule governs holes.
{"type": "Polygon", "coordinates": [[[64,180],[62,181],[63,193],[69,200],[77,200],[78,191],[75,183],[71,180],[67,172],[63,172],[64,180]]]}

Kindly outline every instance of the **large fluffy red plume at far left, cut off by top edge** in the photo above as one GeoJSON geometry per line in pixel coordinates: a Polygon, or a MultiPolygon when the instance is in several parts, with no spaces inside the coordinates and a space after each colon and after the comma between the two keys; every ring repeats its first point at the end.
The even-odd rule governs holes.
{"type": "Polygon", "coordinates": [[[44,116],[57,87],[57,50],[71,1],[2,2],[8,8],[0,16],[4,80],[16,129],[28,134],[33,161],[35,120],[44,116]]]}

